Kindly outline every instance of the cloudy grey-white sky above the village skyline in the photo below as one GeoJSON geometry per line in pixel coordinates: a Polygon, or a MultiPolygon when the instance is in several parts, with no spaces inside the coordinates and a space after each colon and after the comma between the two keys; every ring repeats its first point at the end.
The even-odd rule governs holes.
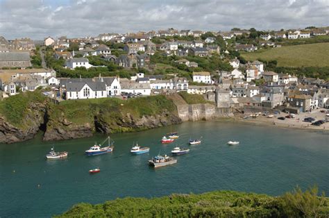
{"type": "Polygon", "coordinates": [[[6,39],[329,26],[329,0],[0,0],[6,39]]]}

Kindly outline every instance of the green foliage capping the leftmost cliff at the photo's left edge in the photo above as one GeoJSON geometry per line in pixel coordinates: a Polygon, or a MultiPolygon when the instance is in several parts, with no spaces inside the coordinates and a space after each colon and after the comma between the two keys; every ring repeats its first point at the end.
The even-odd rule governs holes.
{"type": "Polygon", "coordinates": [[[22,126],[24,117],[31,112],[28,106],[35,103],[42,103],[45,100],[44,95],[40,91],[22,92],[12,97],[3,99],[0,102],[0,114],[6,117],[10,124],[22,126]]]}

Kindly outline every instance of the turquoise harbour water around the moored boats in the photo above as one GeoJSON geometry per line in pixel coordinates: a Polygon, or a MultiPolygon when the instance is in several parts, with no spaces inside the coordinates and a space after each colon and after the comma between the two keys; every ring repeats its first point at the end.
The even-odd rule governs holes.
{"type": "Polygon", "coordinates": [[[0,217],[50,217],[75,203],[102,203],[124,196],[153,197],[171,193],[238,190],[279,195],[296,185],[317,184],[329,194],[329,135],[272,126],[248,126],[222,121],[186,122],[173,126],[180,137],[162,145],[170,127],[111,135],[113,153],[87,157],[84,151],[106,136],[42,142],[0,144],[0,217]],[[189,146],[189,137],[203,143],[189,146]],[[228,146],[229,140],[239,145],[228,146]],[[150,153],[130,154],[133,142],[150,153]],[[178,163],[153,169],[147,160],[170,153],[176,144],[190,147],[178,163]],[[65,160],[45,160],[54,145],[69,151],[65,160]],[[89,169],[100,167],[99,174],[89,169]],[[14,172],[15,171],[15,172],[14,172]],[[40,187],[38,187],[40,185],[40,187]]]}

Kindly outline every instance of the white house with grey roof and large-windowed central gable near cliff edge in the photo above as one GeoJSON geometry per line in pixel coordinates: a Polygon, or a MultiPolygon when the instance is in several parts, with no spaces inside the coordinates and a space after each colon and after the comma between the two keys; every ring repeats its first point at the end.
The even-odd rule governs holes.
{"type": "Polygon", "coordinates": [[[106,84],[101,82],[67,83],[66,99],[100,99],[106,97],[106,84]]]}

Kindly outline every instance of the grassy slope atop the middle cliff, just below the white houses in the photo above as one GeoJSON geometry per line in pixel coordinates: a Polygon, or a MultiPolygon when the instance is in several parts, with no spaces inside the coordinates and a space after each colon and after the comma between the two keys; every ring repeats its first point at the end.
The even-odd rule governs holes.
{"type": "Polygon", "coordinates": [[[127,101],[116,98],[63,101],[59,106],[52,106],[51,112],[53,117],[64,115],[67,120],[75,124],[85,124],[92,123],[94,116],[99,113],[110,121],[127,113],[142,117],[143,115],[158,115],[165,110],[174,112],[176,110],[174,103],[167,100],[165,96],[154,96],[127,101]]]}

